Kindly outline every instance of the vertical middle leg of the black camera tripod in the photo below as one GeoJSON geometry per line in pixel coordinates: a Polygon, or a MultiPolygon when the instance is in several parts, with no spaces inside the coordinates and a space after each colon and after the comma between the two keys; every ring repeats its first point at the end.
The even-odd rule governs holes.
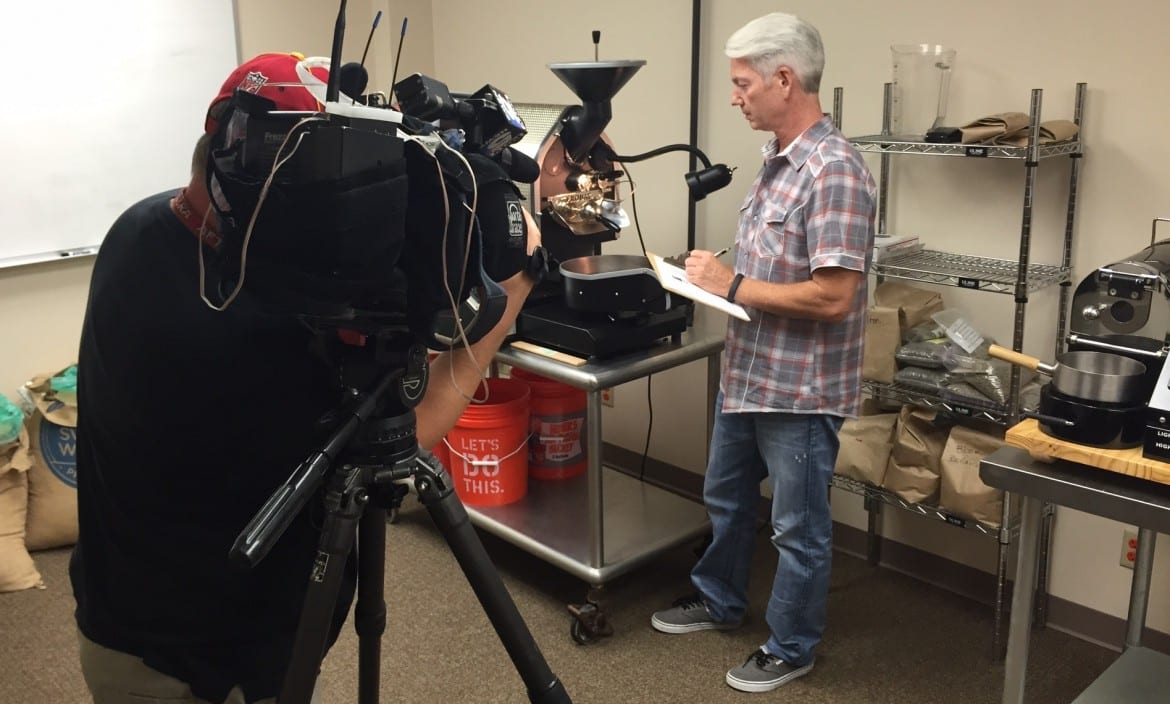
{"type": "Polygon", "coordinates": [[[358,524],[358,702],[378,704],[381,635],[386,630],[386,510],[369,505],[358,524]]]}

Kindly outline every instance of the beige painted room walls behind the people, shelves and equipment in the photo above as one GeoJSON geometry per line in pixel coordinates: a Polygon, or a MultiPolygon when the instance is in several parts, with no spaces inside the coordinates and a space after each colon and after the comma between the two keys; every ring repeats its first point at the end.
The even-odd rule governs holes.
{"type": "MultiPolygon", "coordinates": [[[[722,42],[744,21],[777,9],[762,0],[709,0],[702,19],[702,108],[700,146],[715,161],[738,167],[727,189],[698,209],[701,246],[730,241],[736,208],[758,165],[765,136],[751,132],[728,104],[722,42]]],[[[954,0],[790,0],[783,9],[805,15],[825,39],[828,65],[823,84],[826,110],[833,87],[845,89],[847,133],[876,132],[881,125],[881,84],[889,80],[893,43],[945,43],[958,51],[949,115],[955,123],[1004,110],[1028,109],[1030,91],[1045,89],[1044,117],[1071,117],[1073,89],[1087,82],[1086,159],[1073,250],[1074,282],[1093,268],[1141,249],[1155,216],[1170,215],[1164,165],[1170,140],[1162,138],[1170,101],[1162,89],[1170,44],[1162,33],[1170,6],[1158,0],[1116,6],[1089,4],[1075,12],[1055,0],[1030,4],[990,0],[978,7],[954,0]],[[955,18],[959,18],[956,20],[955,18]],[[966,20],[966,19],[969,20],[966,20]]],[[[519,102],[572,102],[548,71],[553,61],[593,56],[590,30],[603,32],[603,58],[646,58],[647,65],[614,99],[607,129],[619,151],[645,151],[687,138],[690,4],[682,0],[627,2],[596,0],[589,14],[546,0],[512,0],[508,12],[479,0],[388,0],[351,2],[346,60],[360,55],[369,22],[384,11],[371,48],[373,85],[390,85],[397,35],[404,15],[410,29],[399,77],[433,75],[453,90],[493,83],[519,102]],[[391,12],[393,8],[393,12],[391,12]]],[[[328,54],[335,18],[331,2],[238,0],[241,54],[298,49],[328,54]]],[[[208,88],[208,92],[214,87],[208,88]]],[[[677,251],[686,246],[686,157],[667,156],[634,165],[638,215],[646,246],[677,251]]],[[[873,165],[876,168],[876,164],[873,165]]],[[[932,247],[1003,256],[1017,254],[1023,208],[1023,171],[1014,163],[978,163],[903,157],[894,165],[896,186],[892,230],[915,232],[932,247]]],[[[1037,184],[1034,261],[1054,263],[1067,186],[1065,163],[1045,163],[1037,184]]],[[[104,226],[103,226],[104,227],[104,226]]],[[[1162,233],[1162,237],[1170,233],[1162,233]]],[[[631,228],[608,253],[639,250],[631,228]]],[[[0,353],[0,389],[14,395],[30,374],[71,361],[84,308],[91,263],[49,263],[0,269],[0,323],[8,344],[0,353]]],[[[945,290],[951,305],[977,313],[985,333],[1010,339],[1011,302],[990,294],[963,297],[945,290]]],[[[1051,356],[1055,310],[1051,292],[1034,297],[1027,317],[1026,350],[1051,356]]],[[[700,325],[722,327],[716,316],[700,325]]],[[[706,416],[703,365],[688,365],[654,378],[654,434],[651,454],[702,471],[706,416]]],[[[618,389],[606,410],[606,440],[640,451],[647,427],[646,385],[618,389]]],[[[865,525],[860,501],[834,496],[839,520],[865,525]]],[[[887,511],[883,532],[895,539],[993,571],[994,544],[971,533],[887,511]]],[[[1052,553],[1051,592],[1060,598],[1124,616],[1130,572],[1117,566],[1122,526],[1060,510],[1052,553]]],[[[1157,565],[1166,564],[1166,546],[1157,565]]],[[[1170,630],[1170,592],[1155,568],[1150,626],[1170,630]]]]}

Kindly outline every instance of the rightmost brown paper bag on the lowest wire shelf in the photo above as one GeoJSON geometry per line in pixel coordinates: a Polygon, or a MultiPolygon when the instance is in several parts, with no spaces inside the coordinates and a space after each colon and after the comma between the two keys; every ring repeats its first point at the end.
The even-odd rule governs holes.
{"type": "Polygon", "coordinates": [[[1004,492],[983,483],[979,461],[1004,444],[994,435],[955,426],[943,447],[938,508],[959,518],[973,518],[999,527],[1004,492]]]}

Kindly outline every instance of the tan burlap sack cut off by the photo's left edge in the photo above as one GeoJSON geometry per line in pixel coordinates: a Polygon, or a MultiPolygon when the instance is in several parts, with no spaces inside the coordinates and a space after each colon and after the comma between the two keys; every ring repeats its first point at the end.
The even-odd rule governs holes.
{"type": "Polygon", "coordinates": [[[28,430],[21,428],[19,440],[0,444],[0,592],[44,587],[25,547],[28,469],[32,465],[28,430]]]}

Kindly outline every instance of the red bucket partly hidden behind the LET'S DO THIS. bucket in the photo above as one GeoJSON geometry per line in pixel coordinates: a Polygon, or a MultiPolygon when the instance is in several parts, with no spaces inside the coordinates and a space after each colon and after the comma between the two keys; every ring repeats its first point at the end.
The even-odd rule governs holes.
{"type": "Polygon", "coordinates": [[[589,469],[585,454],[585,391],[512,367],[532,387],[528,475],[567,479],[589,469]]]}

